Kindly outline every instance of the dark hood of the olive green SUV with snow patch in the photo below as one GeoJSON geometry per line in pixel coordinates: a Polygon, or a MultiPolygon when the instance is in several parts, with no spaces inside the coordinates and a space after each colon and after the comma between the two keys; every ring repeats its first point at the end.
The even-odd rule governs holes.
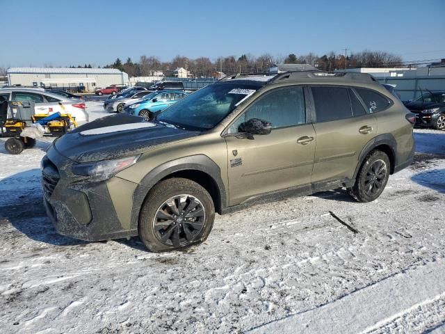
{"type": "Polygon", "coordinates": [[[115,159],[145,152],[163,143],[197,136],[159,122],[146,122],[138,116],[118,114],[99,118],[58,138],[54,148],[76,162],[115,159]]]}

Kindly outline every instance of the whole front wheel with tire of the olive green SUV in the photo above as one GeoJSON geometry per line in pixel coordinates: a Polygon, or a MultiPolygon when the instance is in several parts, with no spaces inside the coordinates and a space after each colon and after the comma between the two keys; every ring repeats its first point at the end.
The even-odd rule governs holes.
{"type": "Polygon", "coordinates": [[[206,189],[188,179],[171,178],[156,184],[145,198],[139,237],[154,253],[184,249],[205,241],[214,219],[215,207],[206,189]]]}

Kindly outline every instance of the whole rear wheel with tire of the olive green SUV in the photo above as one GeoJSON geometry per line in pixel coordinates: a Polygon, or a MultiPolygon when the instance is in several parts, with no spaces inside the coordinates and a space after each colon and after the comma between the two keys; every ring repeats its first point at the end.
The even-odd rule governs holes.
{"type": "Polygon", "coordinates": [[[360,167],[352,188],[348,193],[357,202],[371,202],[378,198],[387,185],[391,163],[385,152],[375,150],[368,154],[360,167]]]}

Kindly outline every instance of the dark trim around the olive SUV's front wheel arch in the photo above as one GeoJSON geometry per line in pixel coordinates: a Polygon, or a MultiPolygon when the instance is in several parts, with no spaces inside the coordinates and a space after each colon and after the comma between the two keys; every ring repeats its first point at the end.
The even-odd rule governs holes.
{"type": "Polygon", "coordinates": [[[227,195],[221,171],[218,165],[207,155],[197,154],[189,157],[183,157],[175,160],[165,162],[153,168],[143,179],[139,182],[136,190],[133,193],[133,207],[131,209],[131,229],[138,228],[140,209],[147,194],[152,187],[163,180],[168,175],[180,172],[182,170],[197,170],[206,173],[211,177],[213,182],[218,186],[219,203],[215,203],[216,212],[223,212],[227,207],[227,195]]]}

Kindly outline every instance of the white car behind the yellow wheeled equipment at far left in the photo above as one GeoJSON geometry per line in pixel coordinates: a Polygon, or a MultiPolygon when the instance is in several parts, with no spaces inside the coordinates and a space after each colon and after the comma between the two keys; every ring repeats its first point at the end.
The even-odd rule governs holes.
{"type": "Polygon", "coordinates": [[[70,113],[79,125],[89,120],[85,102],[49,93],[40,88],[1,88],[0,96],[7,101],[34,101],[37,114],[51,115],[58,111],[70,113]]]}

